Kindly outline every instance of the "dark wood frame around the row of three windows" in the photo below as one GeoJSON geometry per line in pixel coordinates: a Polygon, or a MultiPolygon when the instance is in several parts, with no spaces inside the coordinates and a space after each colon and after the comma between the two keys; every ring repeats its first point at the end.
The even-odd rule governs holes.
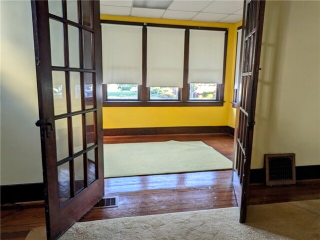
{"type": "Polygon", "coordinates": [[[130,21],[113,21],[101,20],[101,23],[110,24],[125,24],[125,25],[142,25],[142,85],[138,85],[138,99],[106,99],[106,84],[103,86],[103,106],[223,106],[224,101],[224,84],[225,84],[225,65],[226,65],[226,50],[228,40],[228,29],[220,27],[202,27],[202,26],[187,26],[187,25],[170,25],[156,24],[130,21]],[[155,27],[171,27],[182,28],[184,32],[184,60],[183,60],[183,86],[179,87],[177,100],[166,99],[149,99],[150,88],[146,86],[146,26],[155,27]],[[198,30],[215,30],[224,31],[224,55],[223,55],[223,75],[222,84],[217,84],[216,100],[190,100],[189,99],[189,83],[188,83],[188,60],[189,60],[189,29],[198,30]]]}

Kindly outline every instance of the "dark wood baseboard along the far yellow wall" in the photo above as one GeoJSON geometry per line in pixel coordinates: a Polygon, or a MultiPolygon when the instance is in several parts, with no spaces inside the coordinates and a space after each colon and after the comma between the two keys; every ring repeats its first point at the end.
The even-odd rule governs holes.
{"type": "Polygon", "coordinates": [[[134,128],[104,128],[103,129],[104,136],[194,134],[194,133],[228,133],[233,135],[234,128],[230,126],[174,126],[174,127],[134,127],[134,128]]]}

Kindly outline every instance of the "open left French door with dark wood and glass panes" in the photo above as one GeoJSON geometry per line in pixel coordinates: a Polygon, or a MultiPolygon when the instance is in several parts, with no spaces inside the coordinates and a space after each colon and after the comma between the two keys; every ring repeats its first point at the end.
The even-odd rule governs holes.
{"type": "Polygon", "coordinates": [[[104,194],[99,1],[31,0],[47,239],[104,194]]]}

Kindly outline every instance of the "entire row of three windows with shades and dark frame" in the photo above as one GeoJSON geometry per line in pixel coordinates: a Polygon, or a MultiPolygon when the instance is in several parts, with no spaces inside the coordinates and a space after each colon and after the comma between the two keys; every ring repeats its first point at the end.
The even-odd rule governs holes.
{"type": "Polygon", "coordinates": [[[104,106],[222,106],[226,28],[101,21],[104,106]]]}

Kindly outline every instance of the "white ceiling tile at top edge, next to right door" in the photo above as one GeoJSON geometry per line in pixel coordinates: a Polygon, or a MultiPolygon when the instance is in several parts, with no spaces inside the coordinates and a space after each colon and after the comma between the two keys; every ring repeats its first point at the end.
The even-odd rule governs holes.
{"type": "Polygon", "coordinates": [[[243,7],[243,0],[215,0],[202,10],[202,12],[231,14],[243,7]]]}

